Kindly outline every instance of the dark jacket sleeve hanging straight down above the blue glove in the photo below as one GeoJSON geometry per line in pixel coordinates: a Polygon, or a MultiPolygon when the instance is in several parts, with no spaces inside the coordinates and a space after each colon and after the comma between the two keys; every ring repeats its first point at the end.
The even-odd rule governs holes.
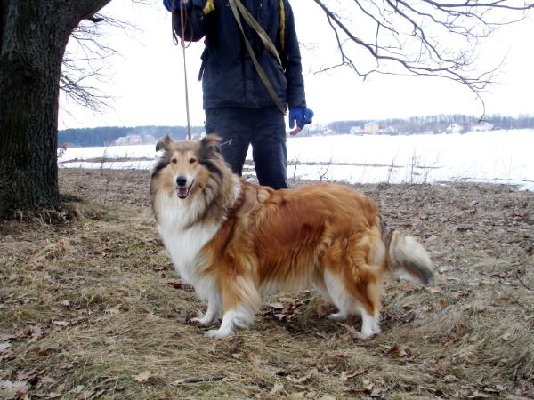
{"type": "Polygon", "coordinates": [[[284,0],[284,9],[286,13],[286,29],[285,44],[282,51],[282,67],[285,69],[287,79],[287,106],[289,108],[306,107],[303,67],[296,37],[295,19],[291,5],[287,0],[284,0]]]}

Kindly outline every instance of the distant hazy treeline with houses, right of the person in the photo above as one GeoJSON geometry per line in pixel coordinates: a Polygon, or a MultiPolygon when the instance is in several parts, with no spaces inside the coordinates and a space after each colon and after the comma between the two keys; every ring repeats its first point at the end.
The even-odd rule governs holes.
{"type": "MultiPolygon", "coordinates": [[[[347,133],[355,126],[364,127],[369,122],[375,122],[380,129],[388,129],[391,132],[403,133],[442,133],[450,124],[458,124],[465,132],[471,131],[471,127],[480,122],[493,125],[493,129],[527,129],[534,128],[534,116],[480,116],[465,115],[439,115],[439,116],[412,116],[407,119],[384,119],[384,120],[354,120],[336,121],[328,124],[328,129],[336,133],[347,133]]],[[[309,132],[313,134],[313,132],[309,132]]]]}

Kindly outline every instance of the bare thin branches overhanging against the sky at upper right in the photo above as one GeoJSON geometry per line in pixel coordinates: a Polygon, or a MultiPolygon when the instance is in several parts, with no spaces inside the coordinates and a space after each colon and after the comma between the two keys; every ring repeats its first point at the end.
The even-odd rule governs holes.
{"type": "Polygon", "coordinates": [[[521,0],[314,1],[340,53],[339,61],[322,71],[347,66],[364,78],[374,73],[440,76],[477,95],[498,68],[477,68],[477,45],[534,7],[521,0]],[[355,54],[365,57],[356,61],[355,54]]]}

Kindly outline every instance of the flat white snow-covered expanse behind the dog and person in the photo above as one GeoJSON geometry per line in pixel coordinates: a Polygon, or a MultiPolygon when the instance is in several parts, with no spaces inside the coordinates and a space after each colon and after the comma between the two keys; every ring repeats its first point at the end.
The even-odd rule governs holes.
{"type": "MultiPolygon", "coordinates": [[[[350,183],[468,180],[534,190],[533,153],[534,130],[296,137],[287,138],[287,177],[350,183]]],[[[156,156],[154,145],[69,148],[60,166],[150,169],[156,156]],[[89,161],[102,157],[114,161],[89,161]]]]}

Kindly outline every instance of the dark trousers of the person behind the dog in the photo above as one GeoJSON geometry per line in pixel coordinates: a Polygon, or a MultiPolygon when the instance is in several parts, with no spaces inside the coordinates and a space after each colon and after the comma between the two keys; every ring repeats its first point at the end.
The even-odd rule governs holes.
{"type": "Polygon", "coordinates": [[[224,160],[241,176],[252,145],[260,185],[287,188],[286,124],[276,107],[206,108],[206,132],[221,136],[224,160]]]}

